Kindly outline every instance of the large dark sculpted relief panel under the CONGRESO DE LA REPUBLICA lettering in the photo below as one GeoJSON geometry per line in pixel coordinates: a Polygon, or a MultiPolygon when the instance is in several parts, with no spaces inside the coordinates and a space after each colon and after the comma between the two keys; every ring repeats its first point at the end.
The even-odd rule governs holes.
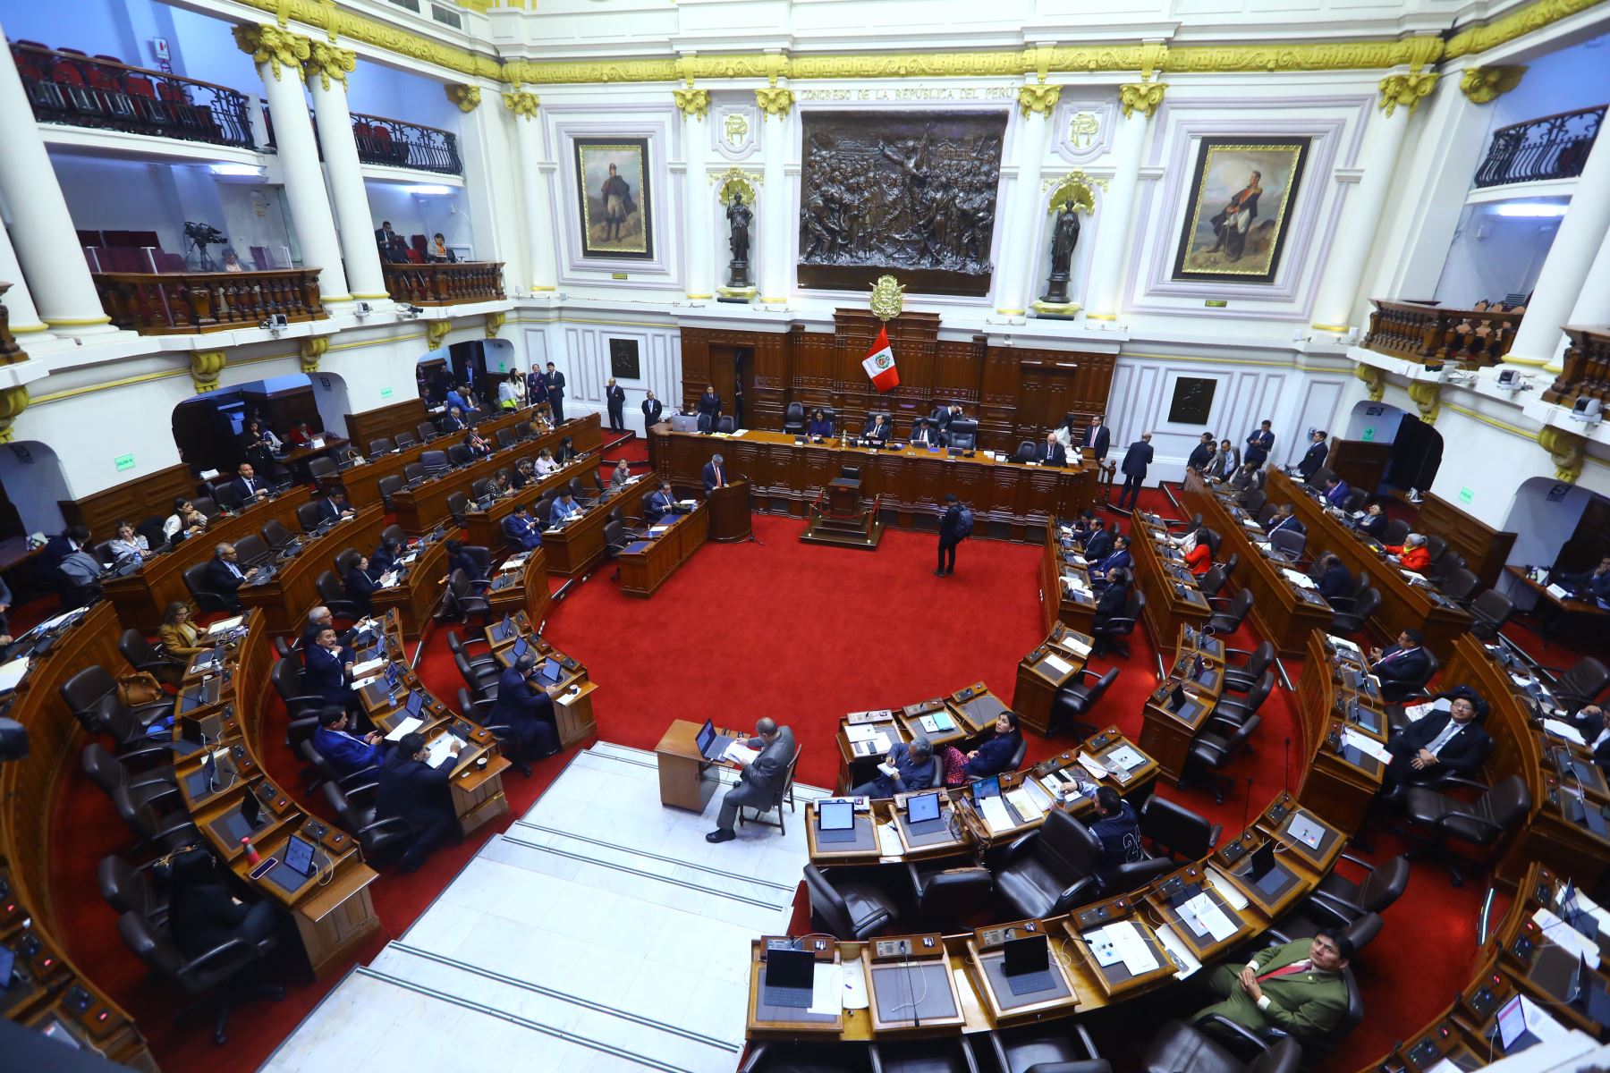
{"type": "Polygon", "coordinates": [[[1006,113],[805,113],[802,288],[987,294],[1006,113]]]}

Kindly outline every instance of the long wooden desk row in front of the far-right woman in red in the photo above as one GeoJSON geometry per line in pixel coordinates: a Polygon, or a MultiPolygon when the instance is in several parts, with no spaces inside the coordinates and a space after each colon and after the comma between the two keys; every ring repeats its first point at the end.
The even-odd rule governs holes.
{"type": "Polygon", "coordinates": [[[1470,615],[1441,594],[1409,584],[1396,563],[1377,555],[1370,545],[1331,518],[1285,473],[1270,468],[1264,492],[1272,504],[1291,504],[1298,521],[1307,528],[1307,553],[1335,552],[1351,573],[1365,573],[1381,594],[1381,608],[1372,626],[1381,639],[1404,629],[1420,629],[1426,647],[1439,658],[1454,650],[1454,639],[1470,631],[1470,615]]]}

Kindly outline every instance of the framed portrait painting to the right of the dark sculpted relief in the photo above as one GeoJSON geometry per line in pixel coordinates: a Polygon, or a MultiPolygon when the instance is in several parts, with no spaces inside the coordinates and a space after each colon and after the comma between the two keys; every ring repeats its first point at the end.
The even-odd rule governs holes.
{"type": "Polygon", "coordinates": [[[1274,283],[1309,138],[1199,138],[1174,278],[1274,283]]]}

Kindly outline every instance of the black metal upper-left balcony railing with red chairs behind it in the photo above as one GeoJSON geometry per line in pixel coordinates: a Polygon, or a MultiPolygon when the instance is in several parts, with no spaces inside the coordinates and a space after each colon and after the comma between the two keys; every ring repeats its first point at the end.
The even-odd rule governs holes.
{"type": "Polygon", "coordinates": [[[229,87],[34,43],[11,56],[39,122],[254,148],[246,97],[229,87]]]}

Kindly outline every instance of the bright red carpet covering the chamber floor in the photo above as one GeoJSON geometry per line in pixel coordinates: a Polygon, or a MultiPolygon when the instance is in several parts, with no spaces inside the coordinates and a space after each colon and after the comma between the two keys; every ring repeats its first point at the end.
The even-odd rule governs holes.
{"type": "MultiPolygon", "coordinates": [[[[642,449],[634,438],[607,452],[607,458],[641,463],[642,449]]],[[[1159,492],[1146,492],[1143,505],[1172,513],[1159,492]]],[[[594,709],[604,738],[652,750],[675,717],[747,727],[760,716],[774,716],[791,724],[805,746],[800,779],[832,787],[834,734],[847,711],[903,705],[976,680],[1011,700],[1018,660],[1043,635],[1038,547],[969,541],[956,557],[956,576],[940,579],[932,576],[932,536],[889,531],[877,552],[863,553],[800,544],[800,529],[799,521],[757,516],[758,544],[707,545],[649,602],[620,595],[609,569],[572,587],[551,613],[547,635],[581,660],[599,684],[594,709]]],[[[1523,629],[1507,632],[1526,639],[1523,629]]],[[[1251,648],[1256,640],[1248,626],[1230,643],[1251,648]]],[[[1523,643],[1533,648],[1541,642],[1523,643]]],[[[1550,661],[1570,658],[1558,645],[1546,655],[1550,661]]],[[[1098,661],[1098,668],[1104,666],[1098,661]]],[[[1098,717],[1138,735],[1141,698],[1156,680],[1143,632],[1135,634],[1133,653],[1121,666],[1122,676],[1098,717]]],[[[1299,669],[1286,663],[1293,682],[1299,669]]],[[[431,634],[419,671],[436,695],[456,697],[462,682],[444,632],[431,634]]],[[[1254,808],[1282,787],[1291,703],[1277,690],[1264,705],[1256,753],[1228,769],[1240,785],[1224,806],[1199,790],[1159,791],[1222,822],[1227,832],[1238,830],[1246,780],[1253,780],[1254,808]]],[[[279,726],[279,717],[275,713],[269,726],[279,726]]],[[[269,745],[269,774],[304,804],[316,804],[319,798],[298,780],[299,764],[277,740],[269,745]]],[[[1034,738],[1029,758],[1064,745],[1034,738]]],[[[510,819],[530,808],[567,759],[539,764],[530,780],[506,779],[510,819]]],[[[1293,756],[1293,767],[1298,764],[1293,756]]],[[[338,976],[317,985],[293,980],[285,1002],[242,1007],[230,1022],[227,1049],[213,1047],[203,1020],[171,1028],[167,1015],[180,1004],[179,996],[166,985],[145,981],[143,965],[127,954],[116,917],[95,890],[95,862],[127,846],[122,824],[76,767],[64,785],[53,838],[71,853],[56,856],[53,882],[72,957],[135,1015],[166,1070],[256,1068],[338,976]]],[[[388,936],[401,935],[502,825],[440,851],[414,875],[383,874],[372,888],[383,931],[361,959],[372,957],[388,936]]],[[[1375,841],[1375,859],[1399,849],[1386,835],[1375,841]]],[[[1357,965],[1365,1022],[1328,1068],[1364,1067],[1447,1004],[1470,975],[1481,896],[1478,883],[1454,890],[1439,869],[1415,867],[1409,891],[1386,914],[1381,936],[1357,965]],[[1399,972],[1388,970],[1388,957],[1399,962],[1399,972]],[[1402,960],[1410,957],[1414,972],[1402,972],[1402,960]]]]}

